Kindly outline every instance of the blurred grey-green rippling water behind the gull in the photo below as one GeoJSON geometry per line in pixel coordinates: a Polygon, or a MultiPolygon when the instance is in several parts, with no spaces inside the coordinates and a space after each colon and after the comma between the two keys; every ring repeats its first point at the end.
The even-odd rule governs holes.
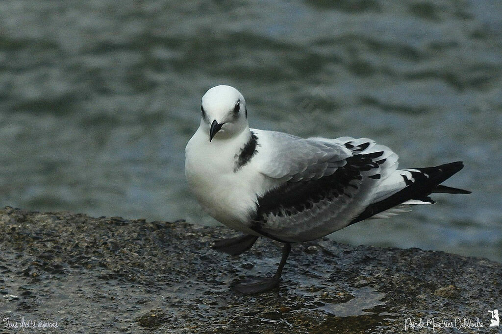
{"type": "Polygon", "coordinates": [[[214,224],[184,148],[230,84],[252,127],[465,162],[472,195],[333,239],[502,261],[501,36],[499,0],[3,0],[0,205],[214,224]]]}

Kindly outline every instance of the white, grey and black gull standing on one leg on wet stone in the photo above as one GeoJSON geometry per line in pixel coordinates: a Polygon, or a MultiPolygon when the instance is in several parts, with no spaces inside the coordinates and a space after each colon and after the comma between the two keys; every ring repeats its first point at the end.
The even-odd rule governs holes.
{"type": "Polygon", "coordinates": [[[249,128],[244,97],[228,85],[207,90],[200,115],[185,148],[188,186],[211,217],[243,233],[212,247],[239,255],[260,237],[283,244],[275,274],[233,284],[240,293],[277,288],[291,244],[434,204],[431,194],[470,194],[441,185],[462,161],[400,170],[398,155],[368,138],[302,138],[249,128]]]}

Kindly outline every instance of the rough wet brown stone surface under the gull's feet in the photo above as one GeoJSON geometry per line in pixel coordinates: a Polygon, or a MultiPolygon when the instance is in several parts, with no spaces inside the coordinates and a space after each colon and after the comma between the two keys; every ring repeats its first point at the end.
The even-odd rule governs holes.
{"type": "MultiPolygon", "coordinates": [[[[210,248],[230,235],[182,221],[6,207],[1,319],[57,321],[45,332],[73,333],[395,333],[405,332],[407,318],[471,321],[470,328],[458,320],[458,328],[436,328],[441,333],[502,328],[488,327],[488,310],[502,310],[499,263],[322,239],[293,245],[280,289],[245,296],[230,289],[232,282],[271,274],[280,249],[264,239],[240,257],[210,248]]],[[[22,331],[6,325],[0,332],[22,331]]],[[[431,333],[432,324],[408,332],[431,333]]]]}

